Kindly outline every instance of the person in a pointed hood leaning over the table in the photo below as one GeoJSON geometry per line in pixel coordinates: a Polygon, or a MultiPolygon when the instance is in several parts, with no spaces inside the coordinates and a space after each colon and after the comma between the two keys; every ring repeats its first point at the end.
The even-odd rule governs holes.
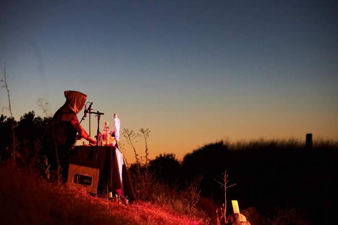
{"type": "Polygon", "coordinates": [[[57,149],[64,177],[68,173],[68,152],[76,140],[84,138],[96,144],[96,141],[82,128],[76,116],[86,104],[87,95],[79,91],[65,91],[65,97],[65,104],[55,112],[46,130],[42,150],[42,155],[46,155],[50,169],[55,170],[57,168],[55,150],[57,149]]]}

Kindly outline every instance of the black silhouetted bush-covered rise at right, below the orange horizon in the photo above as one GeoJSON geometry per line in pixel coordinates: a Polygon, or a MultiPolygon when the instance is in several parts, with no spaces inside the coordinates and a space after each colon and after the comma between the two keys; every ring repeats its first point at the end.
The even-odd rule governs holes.
{"type": "MultiPolygon", "coordinates": [[[[312,149],[290,140],[256,140],[216,143],[188,153],[182,162],[185,177],[202,175],[201,193],[222,202],[224,192],[214,181],[227,170],[231,183],[228,199],[242,209],[256,206],[259,212],[273,213],[276,205],[302,210],[317,219],[333,206],[329,193],[337,179],[338,142],[315,141],[312,149]]],[[[231,203],[228,205],[231,208],[231,203]]]]}

